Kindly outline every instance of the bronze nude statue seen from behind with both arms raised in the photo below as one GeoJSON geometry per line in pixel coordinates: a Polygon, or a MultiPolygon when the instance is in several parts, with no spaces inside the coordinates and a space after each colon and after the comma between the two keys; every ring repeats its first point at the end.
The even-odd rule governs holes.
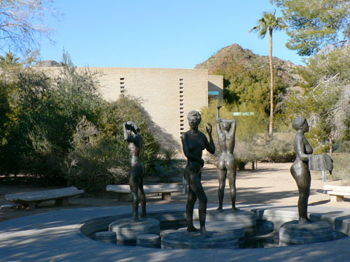
{"type": "Polygon", "coordinates": [[[225,191],[226,176],[228,177],[228,182],[230,184],[232,210],[238,210],[236,208],[237,166],[235,157],[233,156],[237,124],[235,119],[221,119],[220,108],[221,105],[218,105],[218,109],[216,111],[216,129],[218,131],[218,145],[220,148],[220,156],[218,158],[218,211],[223,212],[223,196],[225,191]],[[221,126],[223,130],[221,129],[221,126]]]}

